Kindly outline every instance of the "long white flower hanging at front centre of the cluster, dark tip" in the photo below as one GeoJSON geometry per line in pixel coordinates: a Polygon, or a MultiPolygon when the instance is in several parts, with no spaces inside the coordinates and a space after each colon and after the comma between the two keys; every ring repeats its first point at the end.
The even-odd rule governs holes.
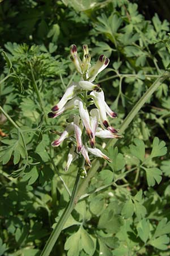
{"type": "Polygon", "coordinates": [[[92,139],[93,138],[93,133],[92,133],[91,126],[90,126],[90,117],[89,117],[89,114],[88,114],[88,110],[84,109],[82,100],[79,100],[78,105],[79,105],[80,117],[82,118],[83,125],[86,129],[87,135],[90,139],[92,139]]]}

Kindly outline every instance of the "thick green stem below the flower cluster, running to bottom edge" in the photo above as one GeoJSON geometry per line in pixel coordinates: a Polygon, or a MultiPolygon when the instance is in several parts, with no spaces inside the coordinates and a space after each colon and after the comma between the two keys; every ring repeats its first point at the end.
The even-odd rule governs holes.
{"type": "Polygon", "coordinates": [[[56,227],[54,228],[52,234],[50,235],[48,241],[46,242],[46,245],[45,245],[44,249],[42,250],[41,256],[48,256],[50,254],[50,252],[53,249],[53,246],[55,245],[55,243],[57,241],[57,238],[59,237],[59,234],[61,233],[61,231],[63,229],[63,226],[65,225],[65,222],[67,221],[67,218],[69,218],[72,210],[74,209],[74,207],[76,205],[75,197],[76,197],[76,192],[78,191],[79,182],[80,182],[80,174],[78,171],[70,201],[67,204],[65,211],[63,212],[61,218],[59,219],[59,221],[58,221],[56,227]]]}

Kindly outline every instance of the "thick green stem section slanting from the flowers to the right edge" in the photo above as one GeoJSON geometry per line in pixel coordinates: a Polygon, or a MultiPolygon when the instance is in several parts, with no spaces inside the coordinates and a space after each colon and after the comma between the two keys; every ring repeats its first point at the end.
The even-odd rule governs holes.
{"type": "MultiPolygon", "coordinates": [[[[162,82],[170,77],[170,73],[168,71],[165,71],[163,75],[159,76],[158,79],[148,88],[145,94],[140,98],[140,100],[135,104],[133,109],[129,112],[127,117],[124,119],[124,122],[122,122],[121,128],[120,128],[120,133],[124,133],[126,128],[129,126],[135,115],[138,114],[139,110],[143,107],[143,105],[146,103],[146,101],[151,97],[151,95],[155,92],[156,89],[159,88],[159,85],[162,84],[162,82]]],[[[116,144],[117,139],[111,139],[106,147],[109,146],[114,146],[116,144]]]]}

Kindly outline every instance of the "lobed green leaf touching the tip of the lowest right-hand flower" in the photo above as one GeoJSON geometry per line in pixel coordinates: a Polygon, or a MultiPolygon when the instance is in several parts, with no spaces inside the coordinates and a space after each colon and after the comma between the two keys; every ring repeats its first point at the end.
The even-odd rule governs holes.
{"type": "Polygon", "coordinates": [[[114,171],[120,171],[122,168],[124,168],[126,162],[124,159],[124,155],[121,153],[118,153],[118,148],[115,147],[109,147],[108,149],[109,152],[109,158],[111,158],[112,163],[108,163],[109,166],[112,167],[113,172],[114,171]]]}

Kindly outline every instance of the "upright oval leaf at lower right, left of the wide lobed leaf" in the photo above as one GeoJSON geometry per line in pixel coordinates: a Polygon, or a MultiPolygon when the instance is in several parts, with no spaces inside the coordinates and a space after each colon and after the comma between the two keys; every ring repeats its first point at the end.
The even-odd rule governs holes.
{"type": "Polygon", "coordinates": [[[146,243],[150,234],[150,222],[143,218],[137,225],[138,236],[146,243]]]}

